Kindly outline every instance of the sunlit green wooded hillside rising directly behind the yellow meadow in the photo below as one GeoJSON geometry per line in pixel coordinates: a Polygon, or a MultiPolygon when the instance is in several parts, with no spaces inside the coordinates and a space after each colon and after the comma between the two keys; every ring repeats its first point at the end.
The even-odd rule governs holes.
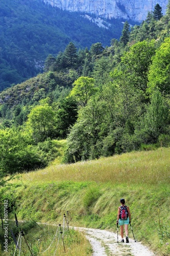
{"type": "Polygon", "coordinates": [[[0,94],[1,176],[63,161],[169,146],[170,2],[120,39],[48,55],[45,72],[0,94]]]}

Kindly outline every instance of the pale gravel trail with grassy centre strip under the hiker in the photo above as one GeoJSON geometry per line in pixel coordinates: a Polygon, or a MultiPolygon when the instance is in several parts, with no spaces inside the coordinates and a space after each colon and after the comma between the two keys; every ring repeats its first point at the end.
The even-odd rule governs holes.
{"type": "MultiPolygon", "coordinates": [[[[134,239],[129,239],[129,243],[117,243],[117,233],[93,229],[75,227],[86,234],[93,249],[93,256],[156,256],[146,246],[134,239]]],[[[120,241],[120,236],[118,236],[120,241]]]]}

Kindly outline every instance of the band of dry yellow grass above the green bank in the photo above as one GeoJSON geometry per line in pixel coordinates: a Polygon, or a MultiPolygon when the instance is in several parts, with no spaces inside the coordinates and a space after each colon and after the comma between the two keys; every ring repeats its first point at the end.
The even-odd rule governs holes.
{"type": "Polygon", "coordinates": [[[20,180],[27,184],[51,181],[169,183],[169,156],[170,148],[158,148],[156,151],[131,152],[75,164],[56,164],[36,172],[22,174],[20,180]]]}

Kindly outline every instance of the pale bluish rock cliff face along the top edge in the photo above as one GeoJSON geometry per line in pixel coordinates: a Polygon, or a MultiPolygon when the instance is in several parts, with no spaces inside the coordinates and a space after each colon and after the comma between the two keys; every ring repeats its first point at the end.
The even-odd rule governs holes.
{"type": "Polygon", "coordinates": [[[168,0],[42,0],[63,10],[94,13],[97,16],[144,20],[156,4],[165,13],[168,0]]]}

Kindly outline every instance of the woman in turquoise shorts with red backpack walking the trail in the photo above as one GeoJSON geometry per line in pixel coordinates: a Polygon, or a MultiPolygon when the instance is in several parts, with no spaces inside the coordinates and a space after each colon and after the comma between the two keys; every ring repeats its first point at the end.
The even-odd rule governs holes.
{"type": "Polygon", "coordinates": [[[131,223],[131,214],[130,209],[127,205],[125,205],[125,199],[120,199],[120,205],[118,207],[118,213],[117,213],[117,221],[116,223],[120,226],[120,235],[122,237],[122,240],[120,242],[124,243],[124,225],[125,225],[125,234],[126,234],[126,243],[129,243],[129,237],[128,237],[128,225],[131,223]]]}

